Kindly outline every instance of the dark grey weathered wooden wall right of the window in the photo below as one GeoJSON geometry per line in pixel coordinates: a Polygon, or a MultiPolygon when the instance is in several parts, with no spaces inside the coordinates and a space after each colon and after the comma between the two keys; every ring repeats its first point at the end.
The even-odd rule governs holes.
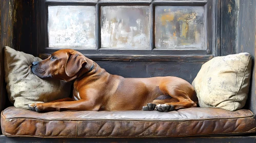
{"type": "MultiPolygon", "coordinates": [[[[221,55],[247,52],[255,61],[256,1],[225,0],[221,2],[221,55]]],[[[256,113],[254,62],[253,67],[246,107],[256,113]]]]}

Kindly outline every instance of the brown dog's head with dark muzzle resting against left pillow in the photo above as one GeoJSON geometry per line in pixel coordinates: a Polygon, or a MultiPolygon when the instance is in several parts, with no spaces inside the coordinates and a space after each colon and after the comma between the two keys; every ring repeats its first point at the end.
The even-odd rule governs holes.
{"type": "Polygon", "coordinates": [[[40,78],[52,77],[59,80],[71,81],[81,74],[80,69],[90,70],[92,61],[80,52],[71,49],[59,50],[43,61],[32,63],[32,72],[40,78]]]}

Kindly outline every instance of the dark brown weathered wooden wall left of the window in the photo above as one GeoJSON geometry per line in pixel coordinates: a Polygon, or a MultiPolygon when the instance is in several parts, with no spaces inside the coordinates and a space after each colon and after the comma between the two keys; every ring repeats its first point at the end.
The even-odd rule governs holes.
{"type": "Polygon", "coordinates": [[[1,51],[0,51],[0,111],[10,106],[6,95],[6,83],[4,80],[4,46],[10,46],[15,50],[36,55],[36,36],[32,36],[35,30],[34,0],[2,0],[1,2],[1,51]]]}

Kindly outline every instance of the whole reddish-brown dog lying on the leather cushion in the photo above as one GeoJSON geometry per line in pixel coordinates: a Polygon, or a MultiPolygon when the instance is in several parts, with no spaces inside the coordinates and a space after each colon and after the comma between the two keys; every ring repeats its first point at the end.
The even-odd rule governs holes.
{"type": "Polygon", "coordinates": [[[74,50],[54,52],[46,60],[33,62],[31,69],[41,78],[52,77],[67,82],[75,80],[72,99],[28,105],[29,109],[37,112],[171,111],[196,107],[198,103],[193,86],[181,78],[123,78],[111,75],[74,50]]]}

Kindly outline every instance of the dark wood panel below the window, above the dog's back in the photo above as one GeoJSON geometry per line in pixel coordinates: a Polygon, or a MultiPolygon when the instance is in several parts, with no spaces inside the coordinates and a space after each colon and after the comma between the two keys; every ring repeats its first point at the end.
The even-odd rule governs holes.
{"type": "Polygon", "coordinates": [[[175,76],[192,83],[204,62],[95,61],[110,74],[126,78],[175,76]]]}

